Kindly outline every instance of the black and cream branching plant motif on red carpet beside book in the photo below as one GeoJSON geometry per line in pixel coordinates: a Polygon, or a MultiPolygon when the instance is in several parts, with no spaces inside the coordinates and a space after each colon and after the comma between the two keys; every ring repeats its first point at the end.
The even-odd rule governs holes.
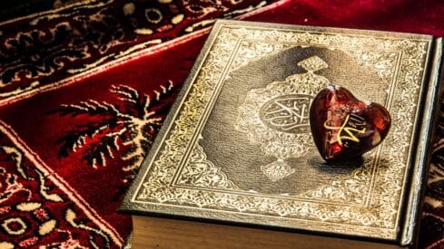
{"type": "Polygon", "coordinates": [[[155,98],[152,99],[129,86],[112,85],[110,91],[120,105],[94,100],[61,105],[54,112],[74,119],[87,116],[90,120],[66,131],[58,140],[62,144],[58,156],[66,158],[71,153],[82,153],[82,159],[97,168],[106,167],[106,161],[114,158],[114,151],[124,149],[121,158],[128,163],[123,166],[123,171],[131,171],[130,176],[134,177],[133,173],[142,164],[162,126],[163,116],[160,114],[169,109],[161,97],[172,89],[172,81],[168,86],[161,85],[161,91],[154,91],[155,98]]]}

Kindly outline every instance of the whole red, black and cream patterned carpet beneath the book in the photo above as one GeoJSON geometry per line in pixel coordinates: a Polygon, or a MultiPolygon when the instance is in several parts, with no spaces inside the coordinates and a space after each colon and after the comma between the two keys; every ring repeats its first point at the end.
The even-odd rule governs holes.
{"type": "MultiPolygon", "coordinates": [[[[242,18],[444,35],[438,0],[145,2],[90,1],[0,24],[0,247],[123,244],[131,218],[115,210],[202,48],[207,30],[194,31],[205,20],[250,13],[242,18]]],[[[421,247],[444,248],[440,121],[421,247]]]]}

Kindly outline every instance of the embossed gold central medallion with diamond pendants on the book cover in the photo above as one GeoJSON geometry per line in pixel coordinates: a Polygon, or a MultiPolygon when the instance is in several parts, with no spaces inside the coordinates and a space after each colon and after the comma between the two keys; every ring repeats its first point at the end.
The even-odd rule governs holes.
{"type": "Polygon", "coordinates": [[[311,56],[298,65],[307,72],[292,74],[285,81],[273,81],[265,88],[252,89],[239,108],[236,129],[247,134],[252,144],[277,158],[262,172],[271,181],[288,177],[294,170],[285,162],[300,158],[311,148],[309,109],[314,95],[330,81],[316,71],[328,65],[318,56],[311,56]],[[280,172],[281,171],[281,172],[280,172]]]}

